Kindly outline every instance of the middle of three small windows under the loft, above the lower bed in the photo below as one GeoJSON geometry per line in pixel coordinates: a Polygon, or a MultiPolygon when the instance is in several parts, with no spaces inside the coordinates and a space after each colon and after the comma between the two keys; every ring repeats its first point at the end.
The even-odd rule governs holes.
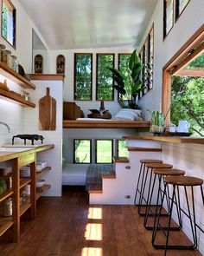
{"type": "Polygon", "coordinates": [[[112,163],[112,140],[96,141],[96,163],[112,163]]]}

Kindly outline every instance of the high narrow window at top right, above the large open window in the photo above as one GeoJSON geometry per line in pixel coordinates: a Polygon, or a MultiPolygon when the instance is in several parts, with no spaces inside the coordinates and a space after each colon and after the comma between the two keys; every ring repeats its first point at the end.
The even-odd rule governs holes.
{"type": "Polygon", "coordinates": [[[173,28],[190,0],[163,0],[163,38],[173,28]]]}

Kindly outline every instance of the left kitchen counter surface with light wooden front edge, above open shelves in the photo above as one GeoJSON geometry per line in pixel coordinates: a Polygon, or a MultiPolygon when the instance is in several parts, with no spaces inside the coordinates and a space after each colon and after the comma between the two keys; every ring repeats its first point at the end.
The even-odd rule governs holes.
{"type": "Polygon", "coordinates": [[[0,148],[0,161],[8,161],[24,154],[32,154],[40,151],[54,148],[54,144],[41,144],[41,145],[3,145],[0,148]]]}

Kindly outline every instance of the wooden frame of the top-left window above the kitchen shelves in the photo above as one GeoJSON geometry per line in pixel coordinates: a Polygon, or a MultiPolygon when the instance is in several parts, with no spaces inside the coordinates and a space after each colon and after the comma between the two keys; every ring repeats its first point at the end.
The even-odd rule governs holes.
{"type": "Polygon", "coordinates": [[[1,17],[1,36],[7,43],[10,44],[10,46],[13,49],[16,49],[16,7],[14,6],[14,4],[10,0],[2,0],[1,14],[2,14],[2,17],[1,17]],[[13,17],[13,23],[12,23],[13,42],[12,43],[10,43],[10,41],[8,41],[8,39],[3,36],[3,2],[6,2],[8,5],[10,5],[10,7],[12,9],[12,17],[13,17]]]}

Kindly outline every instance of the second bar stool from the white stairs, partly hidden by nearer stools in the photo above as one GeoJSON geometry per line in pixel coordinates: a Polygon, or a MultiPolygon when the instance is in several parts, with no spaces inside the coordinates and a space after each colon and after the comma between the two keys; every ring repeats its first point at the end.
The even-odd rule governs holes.
{"type": "MultiPolygon", "coordinates": [[[[141,212],[141,207],[143,206],[143,201],[145,202],[145,207],[148,203],[148,201],[150,200],[150,187],[152,186],[152,174],[153,174],[153,170],[156,168],[172,168],[173,166],[167,163],[147,163],[146,164],[146,174],[144,176],[144,180],[141,186],[141,194],[139,197],[139,203],[138,203],[138,213],[141,216],[145,216],[145,213],[141,212]],[[147,183],[147,179],[148,176],[150,176],[150,182],[149,182],[149,187],[148,187],[148,192],[147,192],[147,198],[145,198],[144,196],[144,190],[146,187],[146,183],[147,183]]],[[[153,184],[154,185],[154,184],[153,184]]]]}

